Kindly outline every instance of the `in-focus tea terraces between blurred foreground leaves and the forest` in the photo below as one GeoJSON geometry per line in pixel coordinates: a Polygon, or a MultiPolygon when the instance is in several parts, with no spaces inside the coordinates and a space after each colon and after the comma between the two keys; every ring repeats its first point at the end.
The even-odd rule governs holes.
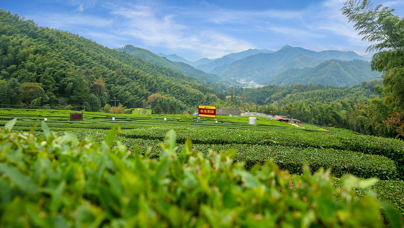
{"type": "Polygon", "coordinates": [[[107,138],[116,124],[122,129],[115,138],[128,150],[139,149],[150,157],[158,157],[166,133],[177,133],[177,151],[187,139],[192,148],[207,154],[209,150],[225,152],[236,149],[235,159],[247,170],[256,163],[274,160],[281,169],[300,174],[307,163],[311,171],[330,169],[336,176],[352,173],[360,178],[378,177],[372,188],[387,198],[404,214],[404,142],[349,131],[302,129],[286,123],[257,117],[257,125],[247,117],[218,116],[200,118],[194,115],[120,115],[84,112],[84,120],[70,121],[70,111],[0,109],[0,124],[17,118],[13,131],[32,131],[43,137],[40,126],[45,121],[57,135],[74,133],[78,139],[93,137],[97,142],[107,138]],[[112,120],[112,118],[115,120],[112,120]],[[216,122],[217,121],[217,122],[216,122]],[[393,193],[392,193],[393,192],[393,193]]]}

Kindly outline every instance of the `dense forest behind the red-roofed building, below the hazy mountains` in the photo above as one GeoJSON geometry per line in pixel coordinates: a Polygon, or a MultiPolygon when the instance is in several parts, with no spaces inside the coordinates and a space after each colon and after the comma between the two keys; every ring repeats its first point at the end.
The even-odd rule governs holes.
{"type": "Polygon", "coordinates": [[[383,122],[393,108],[385,102],[381,81],[362,82],[353,87],[321,84],[268,85],[258,89],[234,88],[227,101],[216,101],[218,108],[288,116],[315,125],[345,128],[366,135],[395,137],[397,133],[383,122]]]}

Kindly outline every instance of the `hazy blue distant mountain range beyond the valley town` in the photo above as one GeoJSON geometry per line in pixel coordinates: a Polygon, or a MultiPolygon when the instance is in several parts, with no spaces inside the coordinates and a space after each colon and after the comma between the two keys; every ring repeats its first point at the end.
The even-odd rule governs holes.
{"type": "MultiPolygon", "coordinates": [[[[175,54],[155,55],[132,45],[125,46],[122,51],[201,80],[215,82],[223,78],[234,78],[259,84],[284,86],[311,82],[333,86],[353,86],[375,77],[375,72],[371,72],[369,65],[369,57],[372,54],[361,56],[353,51],[316,52],[285,45],[278,51],[248,49],[217,59],[202,58],[194,62],[175,54]]],[[[230,84],[240,86],[234,81],[227,83],[227,85],[230,84]]]]}

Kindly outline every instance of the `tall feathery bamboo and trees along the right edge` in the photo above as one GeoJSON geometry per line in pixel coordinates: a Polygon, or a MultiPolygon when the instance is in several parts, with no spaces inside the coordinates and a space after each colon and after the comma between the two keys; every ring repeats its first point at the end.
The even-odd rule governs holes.
{"type": "MultiPolygon", "coordinates": [[[[381,4],[372,8],[370,0],[349,0],[344,4],[342,14],[355,23],[353,27],[362,40],[371,43],[366,51],[377,51],[370,65],[383,74],[385,102],[395,112],[404,112],[404,17],[394,15],[394,8],[381,4]]],[[[402,115],[396,113],[391,118],[398,116],[402,115]]],[[[391,118],[386,123],[391,123],[391,118]]],[[[389,125],[401,134],[401,127],[389,125]]]]}

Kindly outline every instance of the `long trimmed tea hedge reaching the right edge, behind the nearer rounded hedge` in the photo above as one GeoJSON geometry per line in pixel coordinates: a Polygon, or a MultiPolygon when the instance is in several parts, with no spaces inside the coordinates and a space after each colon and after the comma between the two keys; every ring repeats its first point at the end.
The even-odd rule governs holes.
{"type": "MultiPolygon", "coordinates": [[[[171,128],[128,129],[122,136],[162,140],[171,128]]],[[[385,156],[396,164],[398,177],[404,179],[404,142],[397,139],[328,132],[274,132],[241,129],[191,129],[173,128],[178,142],[191,139],[196,144],[250,144],[282,145],[300,148],[332,148],[365,154],[385,156]]]]}

